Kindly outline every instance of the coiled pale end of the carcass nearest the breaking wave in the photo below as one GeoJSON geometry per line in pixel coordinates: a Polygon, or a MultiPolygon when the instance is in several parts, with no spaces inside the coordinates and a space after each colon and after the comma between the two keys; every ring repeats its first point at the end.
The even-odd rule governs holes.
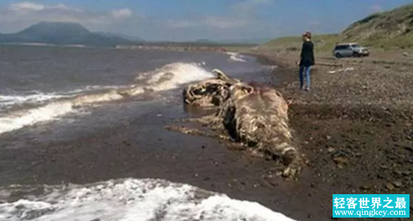
{"type": "Polygon", "coordinates": [[[183,90],[183,101],[188,105],[208,107],[219,106],[229,96],[230,86],[239,83],[238,79],[226,76],[220,70],[213,70],[215,78],[209,78],[183,90]]]}

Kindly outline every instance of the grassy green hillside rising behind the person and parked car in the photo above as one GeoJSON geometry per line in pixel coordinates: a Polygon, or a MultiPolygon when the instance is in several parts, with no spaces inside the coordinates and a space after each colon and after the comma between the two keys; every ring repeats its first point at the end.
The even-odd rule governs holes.
{"type": "MultiPolygon", "coordinates": [[[[356,21],[341,33],[313,36],[317,52],[330,52],[336,43],[357,41],[370,48],[413,49],[413,4],[387,12],[371,14],[356,21]]],[[[295,51],[301,36],[287,36],[260,45],[263,50],[295,51]]]]}

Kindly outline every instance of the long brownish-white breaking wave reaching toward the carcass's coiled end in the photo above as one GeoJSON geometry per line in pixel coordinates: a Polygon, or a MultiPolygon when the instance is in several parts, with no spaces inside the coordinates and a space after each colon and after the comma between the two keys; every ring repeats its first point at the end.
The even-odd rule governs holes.
{"type": "MultiPolygon", "coordinates": [[[[192,81],[212,77],[213,74],[196,63],[171,63],[152,72],[139,74],[135,82],[127,86],[110,86],[109,90],[88,94],[76,94],[85,90],[102,90],[103,87],[86,87],[84,91],[73,91],[71,94],[48,96],[53,99],[40,107],[21,109],[0,117],[0,134],[39,122],[56,120],[61,116],[76,113],[76,108],[100,105],[104,102],[119,101],[146,91],[161,92],[172,90],[192,81]],[[56,101],[58,99],[58,101],[56,101]]],[[[37,98],[39,98],[38,96],[37,98]]],[[[45,101],[45,100],[44,100],[45,101]]],[[[46,100],[47,101],[47,100],[46,100]]]]}

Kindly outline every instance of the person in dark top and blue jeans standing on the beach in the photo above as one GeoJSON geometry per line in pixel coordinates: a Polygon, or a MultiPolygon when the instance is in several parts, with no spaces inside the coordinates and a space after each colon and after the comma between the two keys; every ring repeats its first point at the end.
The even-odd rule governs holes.
{"type": "Polygon", "coordinates": [[[302,34],[302,48],[300,54],[300,89],[304,86],[304,72],[306,76],[306,87],[305,90],[310,90],[310,72],[311,66],[315,64],[314,61],[314,43],[311,41],[311,32],[305,32],[302,34]]]}

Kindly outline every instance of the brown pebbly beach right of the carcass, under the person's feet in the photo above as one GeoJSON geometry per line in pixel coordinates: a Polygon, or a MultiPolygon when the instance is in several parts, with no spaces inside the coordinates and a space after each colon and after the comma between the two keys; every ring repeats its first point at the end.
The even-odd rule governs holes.
{"type": "Polygon", "coordinates": [[[413,193],[413,56],[317,57],[306,92],[298,90],[297,55],[265,59],[282,61],[277,87],[294,99],[291,125],[312,175],[333,193],[413,193]]]}

